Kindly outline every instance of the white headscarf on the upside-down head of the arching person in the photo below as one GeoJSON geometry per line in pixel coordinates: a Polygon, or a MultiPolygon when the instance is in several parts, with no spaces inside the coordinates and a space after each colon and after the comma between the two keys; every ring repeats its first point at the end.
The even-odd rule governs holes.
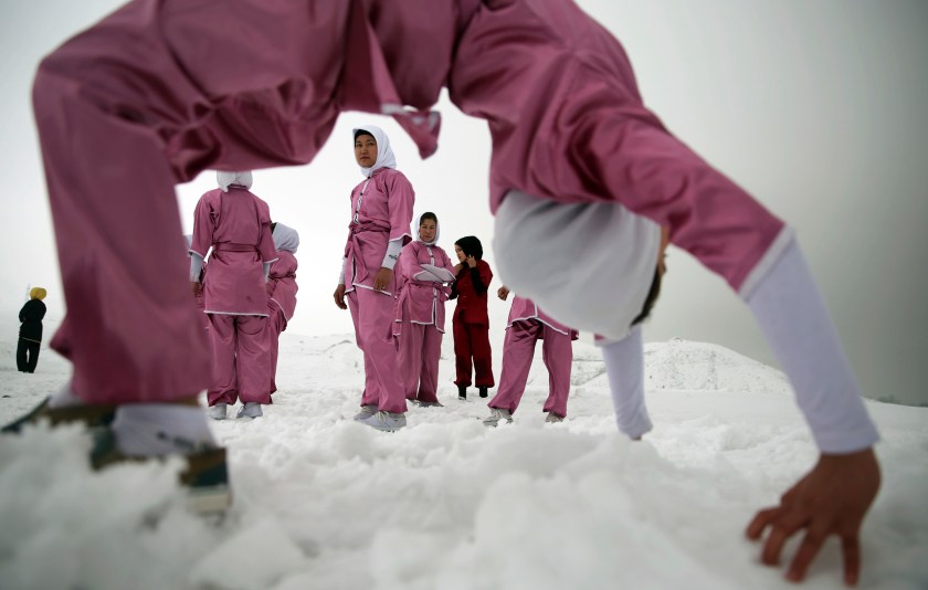
{"type": "Polygon", "coordinates": [[[579,330],[623,338],[654,276],[661,229],[614,202],[558,203],[510,191],[496,213],[503,282],[579,330]]]}

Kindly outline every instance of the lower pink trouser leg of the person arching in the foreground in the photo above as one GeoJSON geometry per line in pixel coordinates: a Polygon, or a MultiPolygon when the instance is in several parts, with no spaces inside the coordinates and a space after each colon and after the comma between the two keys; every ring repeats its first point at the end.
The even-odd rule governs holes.
{"type": "Polygon", "coordinates": [[[88,403],[167,402],[210,386],[190,304],[177,177],[151,127],[114,116],[44,71],[34,89],[67,315],[51,347],[88,403]]]}

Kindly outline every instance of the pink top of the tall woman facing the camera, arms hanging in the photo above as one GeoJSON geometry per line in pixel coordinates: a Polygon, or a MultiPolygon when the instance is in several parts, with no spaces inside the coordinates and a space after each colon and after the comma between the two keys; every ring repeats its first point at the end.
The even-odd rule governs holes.
{"type": "Polygon", "coordinates": [[[412,239],[409,225],[414,203],[412,185],[402,172],[392,168],[380,168],[355,187],[345,244],[346,292],[356,286],[373,288],[388,242],[412,239]]]}

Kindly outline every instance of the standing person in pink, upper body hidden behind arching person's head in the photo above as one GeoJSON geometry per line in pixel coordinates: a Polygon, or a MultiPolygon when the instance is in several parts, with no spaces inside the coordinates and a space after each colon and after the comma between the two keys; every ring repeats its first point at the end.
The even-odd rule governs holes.
{"type": "MultiPolygon", "coordinates": [[[[496,291],[504,302],[509,289],[504,285],[496,291]]],[[[500,420],[513,421],[519,407],[528,370],[535,356],[535,344],[542,340],[545,367],[548,368],[548,399],[542,410],[548,412],[546,422],[561,422],[567,417],[567,398],[570,394],[570,369],[573,364],[573,344],[578,333],[538,309],[531,299],[513,297],[509,325],[503,343],[503,371],[499,389],[489,400],[489,417],[484,424],[495,426],[500,420]]]]}

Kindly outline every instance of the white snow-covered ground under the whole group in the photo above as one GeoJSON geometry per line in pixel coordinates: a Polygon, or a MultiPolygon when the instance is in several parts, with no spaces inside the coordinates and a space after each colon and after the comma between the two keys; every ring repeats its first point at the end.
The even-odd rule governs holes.
{"type": "MultiPolygon", "coordinates": [[[[516,422],[486,429],[485,400],[456,399],[451,345],[445,407],[413,407],[386,434],[350,421],[352,337],[285,333],[275,403],[215,425],[234,486],[221,520],[188,512],[179,462],[94,474],[76,428],[0,438],[0,588],[793,588],[742,535],[815,459],[782,373],[714,345],[650,344],[655,430],[632,443],[594,347],[576,345],[569,420],[544,424],[539,347],[516,422]]],[[[0,422],[70,372],[44,350],[19,373],[12,347],[0,343],[0,422]]],[[[884,483],[861,588],[925,589],[928,409],[867,408],[884,483]]],[[[832,540],[803,587],[842,588],[840,563],[832,540]]]]}

